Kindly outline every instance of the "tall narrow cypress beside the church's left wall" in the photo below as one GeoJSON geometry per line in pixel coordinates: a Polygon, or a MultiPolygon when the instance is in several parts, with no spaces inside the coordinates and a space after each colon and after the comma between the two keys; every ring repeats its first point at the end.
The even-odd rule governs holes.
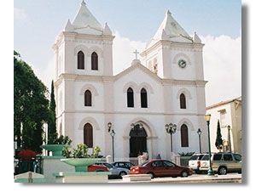
{"type": "Polygon", "coordinates": [[[55,88],[54,88],[54,82],[51,82],[51,93],[50,93],[50,102],[49,102],[49,120],[48,120],[48,135],[50,141],[51,138],[53,138],[56,134],[56,104],[55,104],[55,88]]]}

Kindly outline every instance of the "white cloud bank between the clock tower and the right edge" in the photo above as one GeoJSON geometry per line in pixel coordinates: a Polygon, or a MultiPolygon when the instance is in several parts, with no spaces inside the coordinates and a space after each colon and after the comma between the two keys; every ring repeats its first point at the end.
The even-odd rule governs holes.
{"type": "Polygon", "coordinates": [[[229,36],[201,37],[207,106],[241,96],[241,33],[229,36]]]}

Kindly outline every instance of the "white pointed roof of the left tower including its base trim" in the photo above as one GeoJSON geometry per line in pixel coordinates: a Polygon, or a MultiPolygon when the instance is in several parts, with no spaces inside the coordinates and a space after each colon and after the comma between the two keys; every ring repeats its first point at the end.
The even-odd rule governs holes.
{"type": "Polygon", "coordinates": [[[84,0],[82,1],[79,12],[76,14],[72,23],[68,23],[65,27],[65,31],[74,31],[83,34],[102,35],[103,27],[96,20],[95,16],[90,13],[90,10],[86,7],[84,0]]]}

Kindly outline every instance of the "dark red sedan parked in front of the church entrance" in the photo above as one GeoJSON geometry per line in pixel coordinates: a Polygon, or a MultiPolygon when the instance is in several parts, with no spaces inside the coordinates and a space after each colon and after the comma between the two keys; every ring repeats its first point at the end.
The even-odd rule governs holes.
{"type": "Polygon", "coordinates": [[[133,166],[130,174],[150,174],[151,178],[155,177],[188,177],[193,172],[187,167],[179,167],[172,161],[167,160],[150,160],[143,162],[140,166],[133,166]]]}

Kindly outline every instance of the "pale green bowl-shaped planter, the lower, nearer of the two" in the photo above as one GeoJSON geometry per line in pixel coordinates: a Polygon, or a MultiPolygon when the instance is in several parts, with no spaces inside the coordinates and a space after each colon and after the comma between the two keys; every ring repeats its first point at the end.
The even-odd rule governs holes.
{"type": "Polygon", "coordinates": [[[100,158],[72,158],[72,159],[61,159],[62,162],[67,165],[75,167],[76,172],[87,172],[87,167],[101,161],[100,158]]]}

